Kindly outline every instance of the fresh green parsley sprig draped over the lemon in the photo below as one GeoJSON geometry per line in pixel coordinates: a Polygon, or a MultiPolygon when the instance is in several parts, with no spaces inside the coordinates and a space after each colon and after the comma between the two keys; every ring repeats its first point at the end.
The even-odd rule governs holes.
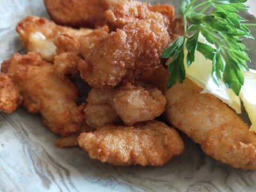
{"type": "Polygon", "coordinates": [[[253,38],[247,27],[256,27],[254,24],[246,24],[247,20],[237,14],[239,11],[249,9],[243,4],[246,1],[207,0],[203,3],[197,3],[197,0],[182,1],[180,14],[183,16],[184,35],[167,47],[162,55],[162,58],[171,58],[168,88],[177,80],[182,83],[185,79],[183,60],[186,47],[188,67],[195,61],[196,51],[201,52],[206,59],[212,61],[212,78],[215,84],[219,85],[222,80],[236,95],[239,94],[244,84],[242,71],[248,71],[246,62],[251,62],[242,41],[243,38],[253,38]],[[209,9],[213,11],[206,14],[209,9]],[[192,35],[188,36],[188,33],[192,35]],[[214,46],[198,42],[200,33],[214,46]]]}

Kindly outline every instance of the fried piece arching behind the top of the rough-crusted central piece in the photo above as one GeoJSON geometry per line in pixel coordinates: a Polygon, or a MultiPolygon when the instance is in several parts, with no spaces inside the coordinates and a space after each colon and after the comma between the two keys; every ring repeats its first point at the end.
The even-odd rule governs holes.
{"type": "Polygon", "coordinates": [[[172,41],[183,35],[182,19],[176,18],[172,5],[123,1],[106,11],[105,16],[111,30],[122,29],[134,20],[154,19],[167,26],[172,41]]]}

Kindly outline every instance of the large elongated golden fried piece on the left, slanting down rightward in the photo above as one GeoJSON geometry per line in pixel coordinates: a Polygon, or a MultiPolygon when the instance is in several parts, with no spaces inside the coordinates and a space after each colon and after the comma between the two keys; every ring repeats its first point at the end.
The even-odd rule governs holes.
{"type": "Polygon", "coordinates": [[[65,76],[55,74],[54,65],[36,53],[14,54],[1,68],[20,93],[22,103],[30,113],[41,113],[43,123],[54,133],[76,132],[83,116],[76,105],[78,90],[65,76]]]}

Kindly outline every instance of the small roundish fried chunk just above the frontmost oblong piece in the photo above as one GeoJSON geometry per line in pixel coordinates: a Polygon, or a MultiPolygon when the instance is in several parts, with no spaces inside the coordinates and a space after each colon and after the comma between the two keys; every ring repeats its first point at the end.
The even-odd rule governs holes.
{"type": "Polygon", "coordinates": [[[127,83],[115,92],[113,106],[125,125],[153,120],[165,110],[162,91],[149,84],[137,82],[136,85],[127,83]]]}

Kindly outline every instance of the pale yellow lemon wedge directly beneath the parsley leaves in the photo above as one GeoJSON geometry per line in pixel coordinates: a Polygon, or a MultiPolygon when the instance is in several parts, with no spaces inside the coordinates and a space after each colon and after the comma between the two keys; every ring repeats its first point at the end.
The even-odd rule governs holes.
{"type": "MultiPolygon", "coordinates": [[[[212,46],[211,44],[207,43],[201,34],[199,34],[198,41],[212,46]]],[[[184,63],[186,76],[204,89],[202,93],[210,93],[215,95],[215,97],[219,98],[222,102],[225,102],[228,106],[233,108],[236,113],[241,113],[240,98],[232,90],[228,89],[224,83],[220,83],[220,86],[218,86],[211,78],[212,61],[205,59],[205,57],[197,51],[195,55],[195,62],[188,68],[186,56],[187,52],[185,51],[184,63]]]]}

